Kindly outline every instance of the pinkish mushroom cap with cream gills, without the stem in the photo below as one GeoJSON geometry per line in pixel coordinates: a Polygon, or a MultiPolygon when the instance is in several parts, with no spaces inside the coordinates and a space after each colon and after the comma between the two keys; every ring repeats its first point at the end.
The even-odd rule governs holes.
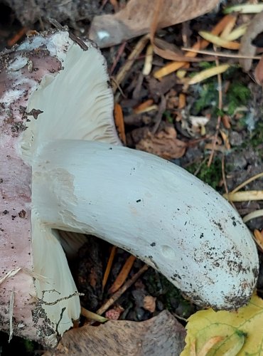
{"type": "Polygon", "coordinates": [[[58,236],[38,216],[34,157],[54,139],[120,144],[105,60],[87,48],[47,31],[0,58],[0,328],[51,346],[80,302],[58,236]]]}

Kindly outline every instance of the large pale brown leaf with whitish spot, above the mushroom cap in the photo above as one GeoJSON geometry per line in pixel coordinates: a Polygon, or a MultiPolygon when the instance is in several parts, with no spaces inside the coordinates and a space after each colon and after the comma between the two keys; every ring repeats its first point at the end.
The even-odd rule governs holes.
{"type": "MultiPolygon", "coordinates": [[[[103,48],[149,33],[159,1],[129,0],[127,6],[116,14],[95,16],[90,27],[90,38],[103,48]]],[[[212,10],[218,2],[219,0],[162,0],[158,28],[194,19],[212,10]]]]}

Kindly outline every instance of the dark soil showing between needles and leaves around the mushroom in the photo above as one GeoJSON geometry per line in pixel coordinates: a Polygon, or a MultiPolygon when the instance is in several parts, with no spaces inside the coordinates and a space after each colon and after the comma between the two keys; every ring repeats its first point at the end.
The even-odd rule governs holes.
{"type": "MultiPolygon", "coordinates": [[[[103,12],[114,12],[110,2],[103,12]]],[[[194,19],[183,25],[172,26],[161,30],[159,35],[169,43],[176,43],[177,46],[183,46],[181,37],[182,31],[188,33],[188,42],[193,44],[195,36],[200,29],[210,29],[222,17],[220,9],[217,13],[208,14],[198,19],[194,19]],[[187,30],[187,31],[186,31],[187,30]]],[[[68,24],[70,31],[75,35],[82,36],[87,33],[90,19],[80,19],[78,21],[65,20],[63,24],[68,24]],[[74,23],[73,23],[74,22],[74,23]]],[[[48,28],[48,23],[36,21],[31,24],[31,29],[39,31],[42,26],[48,28]]],[[[22,28],[21,23],[16,19],[14,11],[9,6],[0,2],[0,50],[9,47],[9,43],[14,35],[22,28]]],[[[23,36],[18,41],[22,41],[23,36]]],[[[138,38],[126,43],[124,51],[120,52],[121,46],[113,46],[102,50],[107,58],[109,73],[112,77],[116,75],[127,61],[129,53],[138,42],[138,38]],[[119,56],[118,61],[116,58],[119,56]]],[[[138,148],[145,143],[145,137],[149,137],[149,132],[157,128],[156,133],[164,132],[162,141],[168,142],[167,132],[176,132],[176,140],[183,142],[181,150],[176,153],[166,150],[166,155],[175,164],[188,169],[193,174],[203,179],[221,194],[225,189],[231,191],[246,179],[263,172],[263,123],[262,123],[262,88],[253,82],[249,75],[242,73],[240,68],[234,68],[222,75],[222,93],[223,105],[226,120],[230,120],[230,125],[221,121],[220,131],[218,132],[217,147],[213,154],[210,167],[211,150],[209,144],[213,143],[213,137],[217,132],[218,124],[218,81],[217,78],[206,80],[183,88],[174,74],[167,75],[159,81],[152,74],[143,76],[141,74],[144,66],[145,51],[134,62],[134,66],[129,70],[129,74],[122,83],[122,93],[117,91],[115,100],[121,105],[124,113],[125,133],[127,145],[138,148]],[[235,93],[238,88],[238,93],[235,93]],[[232,90],[232,92],[231,92],[232,90]],[[179,105],[179,96],[183,93],[186,98],[186,104],[183,108],[179,105]],[[135,114],[134,108],[137,108],[146,100],[152,99],[156,110],[135,114]],[[164,106],[163,106],[164,103],[164,106]],[[232,109],[230,107],[232,105],[232,109]],[[228,110],[228,111],[227,111],[228,110]],[[156,122],[159,117],[159,122],[156,122]],[[208,122],[203,127],[195,126],[195,117],[206,117],[208,122]],[[202,131],[203,130],[203,131],[202,131]],[[223,132],[220,134],[220,132],[223,132]],[[224,135],[225,133],[225,135],[224,135]],[[148,136],[147,136],[148,135],[148,136]],[[230,149],[226,149],[224,138],[230,144],[230,149]],[[183,147],[183,149],[182,149],[183,147]]],[[[227,59],[222,59],[222,63],[227,63],[227,59]]],[[[154,56],[153,69],[161,68],[166,60],[159,56],[154,56]]],[[[204,63],[203,66],[208,66],[204,63]]],[[[201,70],[200,63],[193,63],[188,70],[201,70]]],[[[158,137],[157,137],[158,138],[158,137]]],[[[160,140],[160,139],[159,139],[160,140]]],[[[158,141],[159,142],[159,141],[158,141]]],[[[157,142],[157,143],[158,143],[157,142]]],[[[168,144],[167,144],[168,145],[168,144]]],[[[143,149],[145,146],[143,146],[143,149]]],[[[163,151],[160,151],[163,155],[163,151]]],[[[167,158],[167,157],[166,157],[167,158]]],[[[262,179],[249,183],[246,190],[262,190],[262,179]]],[[[247,201],[235,204],[241,216],[250,212],[263,209],[262,201],[247,201]]],[[[263,229],[262,218],[252,219],[248,222],[249,229],[263,229]]],[[[117,249],[114,258],[109,281],[102,293],[102,271],[107,264],[109,253],[112,246],[100,241],[100,239],[89,236],[87,244],[83,246],[75,261],[71,261],[75,281],[80,293],[85,293],[82,297],[82,305],[92,311],[96,311],[108,297],[107,290],[114,282],[117,274],[122,268],[129,253],[117,249]],[[92,273],[90,272],[92,271],[92,273]]],[[[262,258],[262,254],[260,253],[262,258]]],[[[136,260],[130,276],[134,275],[143,263],[136,260]]],[[[263,286],[263,273],[259,276],[259,290],[263,286]]],[[[166,278],[161,276],[152,268],[149,268],[139,280],[129,288],[117,300],[117,305],[122,306],[122,319],[125,320],[146,320],[159,313],[160,310],[168,309],[180,318],[185,325],[184,318],[188,318],[192,313],[198,310],[198,307],[184,299],[181,293],[169,283],[166,278]],[[154,313],[144,308],[144,297],[151,295],[156,298],[156,308],[154,313]]],[[[14,350],[19,347],[19,355],[40,355],[43,352],[40,345],[33,342],[21,340],[13,337],[8,343],[8,335],[0,333],[0,355],[14,355],[14,350]]]]}

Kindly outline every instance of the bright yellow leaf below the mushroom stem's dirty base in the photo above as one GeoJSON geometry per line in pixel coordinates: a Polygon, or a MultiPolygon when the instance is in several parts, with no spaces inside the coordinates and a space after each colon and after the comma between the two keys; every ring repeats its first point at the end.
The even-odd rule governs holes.
{"type": "Polygon", "coordinates": [[[263,300],[253,295],[249,305],[229,312],[200,310],[188,319],[186,347],[181,356],[196,355],[209,340],[222,337],[205,356],[263,355],[263,300]]]}

